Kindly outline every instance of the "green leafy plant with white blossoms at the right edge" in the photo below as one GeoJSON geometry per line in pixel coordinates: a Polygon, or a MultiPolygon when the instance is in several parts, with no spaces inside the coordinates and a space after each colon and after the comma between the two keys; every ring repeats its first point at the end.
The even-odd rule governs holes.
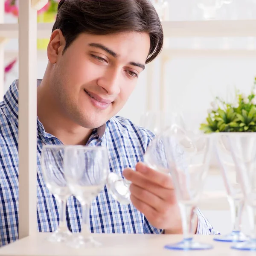
{"type": "Polygon", "coordinates": [[[200,125],[204,133],[255,132],[256,131],[256,78],[251,93],[247,96],[236,91],[234,103],[219,97],[211,103],[206,123],[200,125]]]}

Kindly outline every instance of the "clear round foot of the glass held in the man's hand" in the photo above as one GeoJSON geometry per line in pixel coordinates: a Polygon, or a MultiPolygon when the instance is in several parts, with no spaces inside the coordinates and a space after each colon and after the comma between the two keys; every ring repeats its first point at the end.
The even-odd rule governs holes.
{"type": "Polygon", "coordinates": [[[108,190],[120,204],[131,204],[130,184],[116,173],[111,172],[107,181],[108,190]]]}

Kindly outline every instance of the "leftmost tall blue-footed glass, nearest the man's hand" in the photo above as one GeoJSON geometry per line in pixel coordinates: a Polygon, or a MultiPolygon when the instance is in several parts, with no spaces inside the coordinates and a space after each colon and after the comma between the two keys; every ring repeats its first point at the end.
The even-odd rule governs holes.
{"type": "Polygon", "coordinates": [[[187,132],[179,125],[172,125],[163,133],[166,158],[183,224],[183,240],[168,244],[166,249],[204,250],[212,245],[193,240],[195,209],[201,198],[209,169],[212,136],[187,132]],[[178,157],[179,156],[179,157],[178,157]]]}

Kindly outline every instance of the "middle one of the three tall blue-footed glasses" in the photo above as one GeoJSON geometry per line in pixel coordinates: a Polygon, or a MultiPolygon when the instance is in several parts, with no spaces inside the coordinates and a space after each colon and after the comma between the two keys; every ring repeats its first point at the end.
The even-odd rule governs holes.
{"type": "Polygon", "coordinates": [[[244,209],[244,195],[239,184],[239,173],[233,160],[227,134],[215,134],[215,149],[221,167],[221,175],[227,192],[227,199],[230,204],[232,221],[231,233],[224,236],[216,236],[215,241],[246,241],[248,238],[241,232],[241,218],[244,209]]]}

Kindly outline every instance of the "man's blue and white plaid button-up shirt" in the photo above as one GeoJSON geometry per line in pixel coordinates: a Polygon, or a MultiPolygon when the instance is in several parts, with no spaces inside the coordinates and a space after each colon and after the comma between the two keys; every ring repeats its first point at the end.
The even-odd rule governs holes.
{"type": "MultiPolygon", "coordinates": [[[[40,83],[40,80],[38,80],[40,83]]],[[[18,239],[18,81],[15,80],[0,102],[0,246],[18,239]]],[[[145,150],[154,134],[134,125],[128,119],[113,117],[95,129],[87,145],[108,148],[109,168],[122,176],[126,167],[135,168],[143,161],[145,150]]],[[[37,218],[40,232],[52,232],[58,226],[58,207],[47,189],[41,172],[41,150],[44,144],[62,144],[44,130],[38,120],[37,133],[37,218]]],[[[75,197],[67,201],[67,224],[72,232],[81,229],[81,209],[75,197]]],[[[198,234],[215,234],[198,210],[198,234]]],[[[121,205],[107,188],[91,204],[90,227],[93,233],[161,233],[132,204],[121,205]]]]}

